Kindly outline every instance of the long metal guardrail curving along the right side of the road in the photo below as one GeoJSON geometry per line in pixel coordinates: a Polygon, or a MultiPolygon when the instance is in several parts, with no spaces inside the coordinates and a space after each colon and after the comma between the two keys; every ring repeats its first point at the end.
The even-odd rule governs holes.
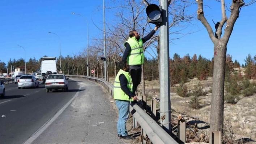
{"type": "MultiPolygon", "coordinates": [[[[91,82],[101,84],[111,96],[113,96],[114,86],[101,78],[79,76],[79,75],[66,75],[69,78],[79,78],[85,79],[91,82]]],[[[154,121],[143,109],[139,103],[131,103],[130,112],[138,123],[140,123],[141,128],[146,132],[149,139],[154,144],[178,144],[157,122],[154,121]]]]}

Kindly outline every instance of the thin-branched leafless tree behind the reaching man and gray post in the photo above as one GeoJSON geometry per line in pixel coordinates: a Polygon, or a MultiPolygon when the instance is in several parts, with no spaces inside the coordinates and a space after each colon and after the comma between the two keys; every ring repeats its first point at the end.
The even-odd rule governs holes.
{"type": "MultiPolygon", "coordinates": [[[[109,28],[115,30],[113,32],[118,31],[118,33],[112,33],[112,31],[108,32],[112,33],[112,35],[115,35],[118,38],[117,43],[119,43],[119,45],[123,45],[123,43],[128,39],[128,33],[131,30],[137,29],[136,31],[139,31],[140,34],[142,34],[142,37],[144,34],[148,34],[152,30],[152,26],[154,27],[154,25],[147,22],[145,9],[150,3],[154,3],[154,0],[122,0],[121,3],[119,2],[120,1],[118,0],[113,1],[114,6],[111,7],[115,9],[115,18],[118,19],[118,21],[107,25],[109,28]]],[[[170,19],[169,27],[175,27],[175,30],[169,29],[169,34],[177,35],[176,37],[172,36],[172,39],[170,40],[182,38],[184,35],[188,34],[183,34],[181,32],[188,27],[188,25],[185,23],[190,23],[193,19],[195,19],[196,13],[186,14],[187,8],[192,5],[187,1],[168,0],[168,4],[170,5],[168,12],[170,19]]],[[[152,50],[152,52],[148,52],[148,54],[150,54],[152,57],[157,57],[159,67],[159,35],[154,35],[152,39],[144,43],[143,46],[144,51],[146,52],[146,48],[152,50]]],[[[142,94],[145,95],[143,73],[142,65],[142,94]]]]}

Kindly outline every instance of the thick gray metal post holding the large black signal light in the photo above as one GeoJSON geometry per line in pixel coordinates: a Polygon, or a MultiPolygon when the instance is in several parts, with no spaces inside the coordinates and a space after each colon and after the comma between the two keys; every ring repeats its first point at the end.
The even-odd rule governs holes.
{"type": "Polygon", "coordinates": [[[160,0],[163,22],[160,24],[160,117],[163,129],[171,132],[171,97],[169,69],[168,0],[160,0]]]}

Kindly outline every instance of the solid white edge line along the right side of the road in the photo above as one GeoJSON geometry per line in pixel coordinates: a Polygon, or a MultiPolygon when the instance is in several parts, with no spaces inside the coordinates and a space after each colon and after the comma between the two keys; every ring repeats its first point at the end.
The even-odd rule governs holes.
{"type": "MultiPolygon", "coordinates": [[[[81,89],[81,86],[78,88],[78,90],[80,89],[81,89]]],[[[72,99],[67,102],[67,104],[65,104],[52,118],[49,119],[48,122],[46,122],[42,127],[40,127],[23,144],[31,144],[35,139],[37,139],[38,136],[41,135],[55,121],[55,119],[57,119],[60,116],[60,114],[71,104],[71,102],[78,96],[78,94],[79,94],[79,91],[76,92],[76,95],[74,95],[72,99]]]]}

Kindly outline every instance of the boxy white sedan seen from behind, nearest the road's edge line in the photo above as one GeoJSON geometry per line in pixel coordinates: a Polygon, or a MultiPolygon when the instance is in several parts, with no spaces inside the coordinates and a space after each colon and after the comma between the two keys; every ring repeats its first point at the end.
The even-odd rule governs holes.
{"type": "Polygon", "coordinates": [[[50,74],[45,81],[46,92],[52,90],[68,91],[68,78],[64,74],[50,74]]]}

